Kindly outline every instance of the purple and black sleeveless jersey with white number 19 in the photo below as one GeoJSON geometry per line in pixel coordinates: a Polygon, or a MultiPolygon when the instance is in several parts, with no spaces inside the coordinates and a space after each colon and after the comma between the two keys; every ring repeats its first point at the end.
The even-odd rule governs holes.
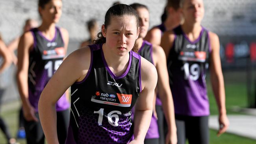
{"type": "Polygon", "coordinates": [[[209,115],[205,81],[211,52],[208,31],[202,27],[200,36],[193,42],[189,41],[181,26],[173,31],[175,39],[167,58],[167,69],[174,111],[188,116],[209,115]]]}

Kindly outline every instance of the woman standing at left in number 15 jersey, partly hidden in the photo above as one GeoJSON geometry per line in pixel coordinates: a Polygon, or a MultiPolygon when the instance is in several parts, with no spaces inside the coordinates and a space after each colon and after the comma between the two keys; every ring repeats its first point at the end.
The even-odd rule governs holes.
{"type": "MultiPolygon", "coordinates": [[[[61,0],[39,0],[42,24],[22,35],[18,46],[17,81],[25,118],[28,144],[44,144],[45,135],[38,115],[41,92],[62,63],[67,52],[67,30],[56,27],[62,12],[61,0]]],[[[54,87],[58,87],[55,85],[54,87]]],[[[59,143],[65,143],[69,122],[69,95],[63,94],[56,105],[59,143]]]]}

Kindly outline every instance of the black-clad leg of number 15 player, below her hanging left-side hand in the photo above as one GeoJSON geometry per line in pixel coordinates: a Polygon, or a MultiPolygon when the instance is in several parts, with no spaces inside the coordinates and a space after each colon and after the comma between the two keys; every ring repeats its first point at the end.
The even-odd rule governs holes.
{"type": "MultiPolygon", "coordinates": [[[[35,116],[39,120],[39,114],[36,113],[35,116]]],[[[43,133],[40,120],[38,122],[25,120],[24,127],[26,131],[27,144],[44,144],[45,143],[45,135],[43,133]]]]}

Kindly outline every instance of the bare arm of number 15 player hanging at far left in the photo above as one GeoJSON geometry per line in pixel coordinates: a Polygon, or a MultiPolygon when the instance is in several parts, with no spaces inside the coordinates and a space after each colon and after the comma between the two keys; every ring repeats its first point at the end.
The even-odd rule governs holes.
{"type": "Polygon", "coordinates": [[[33,36],[31,32],[26,32],[20,38],[18,46],[18,70],[17,70],[17,84],[19,88],[20,98],[22,100],[22,108],[24,118],[28,121],[35,120],[35,111],[28,100],[28,65],[29,52],[33,45],[33,36]]]}

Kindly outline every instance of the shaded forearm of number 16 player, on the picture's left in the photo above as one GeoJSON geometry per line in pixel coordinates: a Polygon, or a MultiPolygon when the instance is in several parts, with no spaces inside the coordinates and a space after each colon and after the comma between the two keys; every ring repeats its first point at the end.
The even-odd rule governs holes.
{"type": "Polygon", "coordinates": [[[58,144],[55,103],[49,103],[44,99],[44,96],[40,96],[38,113],[47,143],[58,144]]]}

